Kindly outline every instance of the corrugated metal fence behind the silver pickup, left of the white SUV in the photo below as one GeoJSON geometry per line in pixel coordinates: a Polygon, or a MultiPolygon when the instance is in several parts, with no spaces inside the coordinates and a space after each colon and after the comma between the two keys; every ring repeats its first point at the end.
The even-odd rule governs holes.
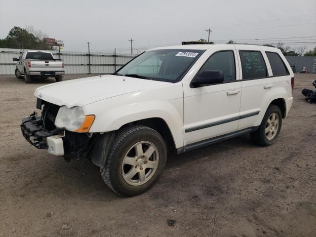
{"type": "MultiPolygon", "coordinates": [[[[28,49],[25,49],[28,50],[28,49]]],[[[31,50],[31,49],[30,49],[31,50]]],[[[45,50],[47,51],[47,50],[45,50]]],[[[0,48],[0,75],[13,75],[16,63],[12,58],[18,58],[21,49],[0,48]]],[[[136,54],[115,54],[103,52],[72,52],[61,51],[60,55],[57,51],[51,51],[55,58],[64,60],[65,73],[67,74],[87,74],[89,73],[89,56],[91,73],[107,74],[114,73],[121,66],[133,59],[136,54]]]]}

